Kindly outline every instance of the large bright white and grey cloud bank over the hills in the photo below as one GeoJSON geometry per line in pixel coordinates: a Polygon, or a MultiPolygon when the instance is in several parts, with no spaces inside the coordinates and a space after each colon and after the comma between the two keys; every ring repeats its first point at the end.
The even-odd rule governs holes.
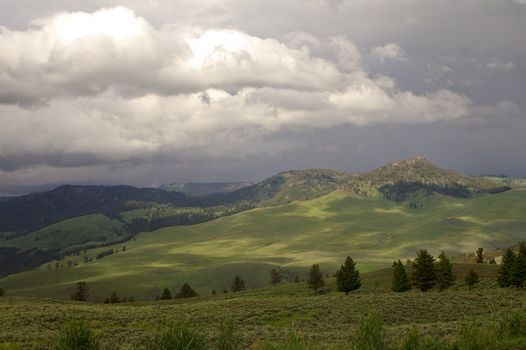
{"type": "MultiPolygon", "coordinates": [[[[518,108],[372,77],[345,36],[295,32],[280,41],[157,28],[125,7],[59,13],[32,26],[0,28],[0,178],[152,155],[277,154],[293,145],[266,138],[288,129],[469,121],[518,108]]],[[[395,43],[373,53],[405,59],[395,43]]]]}

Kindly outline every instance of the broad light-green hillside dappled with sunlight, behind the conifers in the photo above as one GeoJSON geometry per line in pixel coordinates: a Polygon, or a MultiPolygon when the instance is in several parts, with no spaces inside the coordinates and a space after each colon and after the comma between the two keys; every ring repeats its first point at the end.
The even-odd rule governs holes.
{"type": "MultiPolygon", "coordinates": [[[[280,265],[291,276],[319,262],[333,273],[346,255],[362,271],[389,266],[421,248],[449,254],[478,246],[508,246],[526,236],[526,191],[475,199],[433,196],[420,209],[407,203],[357,198],[345,192],[306,202],[255,209],[208,223],[141,234],[127,251],[93,263],[34,270],[0,280],[14,295],[68,297],[87,281],[94,296],[116,290],[154,298],[164,287],[189,282],[200,293],[229,287],[236,274],[249,287],[268,285],[268,271],[280,265]]],[[[119,245],[120,249],[122,245],[119,245]]],[[[101,248],[88,251],[94,257],[101,248]]]]}

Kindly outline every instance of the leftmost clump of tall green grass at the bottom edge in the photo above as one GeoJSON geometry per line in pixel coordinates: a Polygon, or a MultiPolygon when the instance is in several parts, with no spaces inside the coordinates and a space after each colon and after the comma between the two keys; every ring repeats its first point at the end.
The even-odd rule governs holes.
{"type": "Polygon", "coordinates": [[[100,348],[97,335],[84,321],[72,321],[60,331],[57,340],[57,350],[98,350],[100,348]]]}

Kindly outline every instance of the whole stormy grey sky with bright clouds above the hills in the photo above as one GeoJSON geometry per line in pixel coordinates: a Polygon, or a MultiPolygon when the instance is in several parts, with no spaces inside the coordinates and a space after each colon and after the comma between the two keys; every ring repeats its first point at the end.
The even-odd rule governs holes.
{"type": "Polygon", "coordinates": [[[0,194],[422,155],[526,176],[526,0],[0,0],[0,194]]]}

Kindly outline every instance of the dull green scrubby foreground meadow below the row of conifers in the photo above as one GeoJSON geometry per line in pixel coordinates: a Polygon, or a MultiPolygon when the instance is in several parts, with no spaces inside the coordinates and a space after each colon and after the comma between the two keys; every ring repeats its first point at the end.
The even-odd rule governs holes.
{"type": "MultiPolygon", "coordinates": [[[[380,329],[374,324],[377,320],[367,323],[364,315],[381,315],[380,331],[385,335],[381,340],[391,344],[389,346],[398,346],[401,335],[411,334],[418,335],[419,344],[427,344],[428,338],[452,344],[459,339],[479,339],[480,334],[489,334],[478,331],[489,321],[497,322],[489,329],[499,329],[495,324],[502,315],[524,309],[525,303],[523,291],[493,287],[473,292],[460,288],[442,293],[402,294],[369,289],[345,296],[335,292],[315,295],[302,283],[193,300],[115,305],[3,297],[0,298],[0,344],[53,348],[63,335],[64,327],[82,321],[96,334],[102,349],[136,349],[141,344],[148,348],[144,344],[149,344],[152,336],[159,339],[159,330],[174,324],[197,332],[207,344],[219,344],[221,334],[235,333],[242,348],[291,349],[295,347],[287,346],[293,344],[294,337],[304,346],[297,349],[348,348],[348,344],[359,339],[367,343],[367,334],[380,329]],[[232,320],[232,328],[225,324],[220,327],[225,319],[232,320]],[[359,338],[360,332],[362,338],[359,338]]],[[[524,323],[520,324],[519,329],[524,330],[524,323]]],[[[174,336],[167,332],[167,339],[174,336]]],[[[228,337],[223,338],[225,342],[228,337]]],[[[502,339],[508,338],[512,337],[502,339]]],[[[407,342],[409,344],[410,339],[407,342]]],[[[378,348],[371,346],[362,349],[378,348]]]]}

